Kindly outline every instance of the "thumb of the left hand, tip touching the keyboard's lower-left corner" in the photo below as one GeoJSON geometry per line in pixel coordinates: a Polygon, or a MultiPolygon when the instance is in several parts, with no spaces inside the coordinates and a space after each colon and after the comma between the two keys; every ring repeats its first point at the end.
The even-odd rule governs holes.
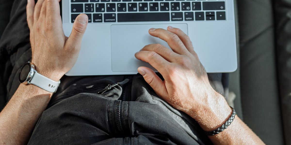
{"type": "Polygon", "coordinates": [[[86,31],[88,25],[88,16],[86,14],[79,14],[73,24],[73,29],[71,35],[66,41],[66,45],[69,45],[68,48],[81,48],[81,42],[83,35],[86,31]]]}

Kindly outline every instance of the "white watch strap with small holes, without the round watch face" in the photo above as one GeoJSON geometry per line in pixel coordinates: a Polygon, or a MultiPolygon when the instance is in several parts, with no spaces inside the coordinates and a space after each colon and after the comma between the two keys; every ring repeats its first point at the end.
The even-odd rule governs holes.
{"type": "Polygon", "coordinates": [[[39,73],[34,73],[31,81],[31,84],[36,85],[44,90],[47,90],[49,92],[55,93],[56,89],[58,88],[60,81],[53,81],[43,75],[40,75],[39,73]]]}

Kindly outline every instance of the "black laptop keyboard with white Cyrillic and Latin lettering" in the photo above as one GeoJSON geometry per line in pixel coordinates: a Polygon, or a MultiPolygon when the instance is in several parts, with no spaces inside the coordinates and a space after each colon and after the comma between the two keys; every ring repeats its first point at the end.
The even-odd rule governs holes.
{"type": "Polygon", "coordinates": [[[71,0],[71,23],[226,20],[225,0],[71,0]]]}

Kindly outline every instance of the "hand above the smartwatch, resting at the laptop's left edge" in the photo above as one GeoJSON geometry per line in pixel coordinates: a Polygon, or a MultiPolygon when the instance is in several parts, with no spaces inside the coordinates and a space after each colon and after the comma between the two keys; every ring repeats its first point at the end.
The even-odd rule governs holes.
{"type": "Polygon", "coordinates": [[[30,29],[32,63],[41,75],[58,81],[76,63],[88,16],[80,14],[70,37],[63,31],[60,0],[28,0],[27,23],[30,29]]]}

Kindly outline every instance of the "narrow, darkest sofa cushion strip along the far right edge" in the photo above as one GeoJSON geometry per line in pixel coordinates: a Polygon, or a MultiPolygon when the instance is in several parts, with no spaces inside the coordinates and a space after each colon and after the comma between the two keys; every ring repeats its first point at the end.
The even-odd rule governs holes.
{"type": "Polygon", "coordinates": [[[286,144],[291,144],[291,1],[275,0],[277,63],[283,127],[286,144]]]}

